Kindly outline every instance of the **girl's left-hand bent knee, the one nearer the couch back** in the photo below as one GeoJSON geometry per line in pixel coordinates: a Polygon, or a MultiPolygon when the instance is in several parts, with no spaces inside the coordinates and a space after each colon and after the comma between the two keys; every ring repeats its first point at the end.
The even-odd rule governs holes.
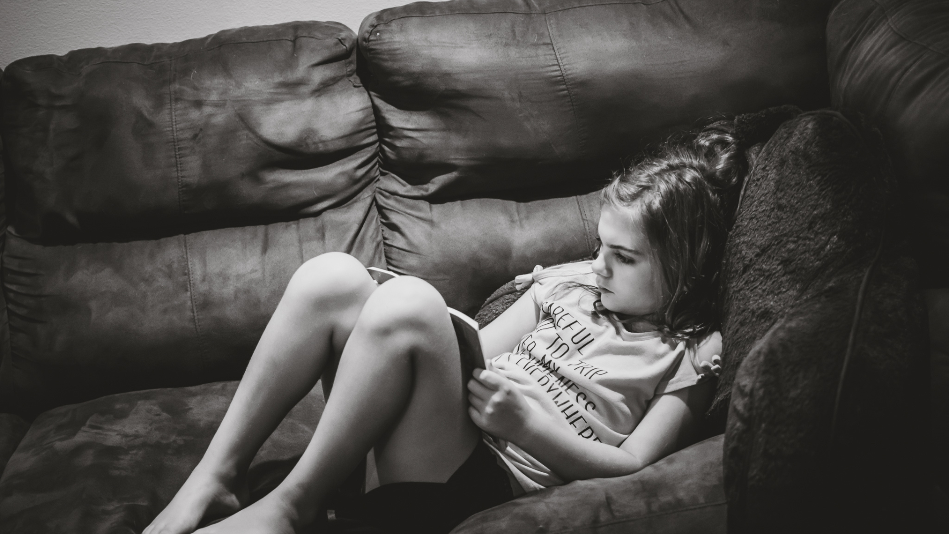
{"type": "Polygon", "coordinates": [[[287,287],[287,295],[319,305],[364,300],[375,282],[359,259],[342,252],[328,252],[308,259],[287,287]]]}

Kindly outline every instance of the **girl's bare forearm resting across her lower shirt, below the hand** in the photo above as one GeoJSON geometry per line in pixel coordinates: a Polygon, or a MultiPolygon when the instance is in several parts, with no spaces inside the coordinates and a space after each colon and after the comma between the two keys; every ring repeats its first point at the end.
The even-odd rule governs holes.
{"type": "Polygon", "coordinates": [[[538,415],[511,441],[549,467],[565,482],[616,477],[646,465],[622,448],[588,440],[538,415]]]}

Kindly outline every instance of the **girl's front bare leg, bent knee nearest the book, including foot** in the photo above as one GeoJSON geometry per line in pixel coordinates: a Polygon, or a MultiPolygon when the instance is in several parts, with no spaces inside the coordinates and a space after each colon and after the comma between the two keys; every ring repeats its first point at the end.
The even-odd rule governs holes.
{"type": "Polygon", "coordinates": [[[381,484],[447,481],[479,435],[463,388],[441,296],[418,278],[386,282],[363,307],[296,467],[269,495],[200,532],[297,531],[373,446],[381,484]]]}

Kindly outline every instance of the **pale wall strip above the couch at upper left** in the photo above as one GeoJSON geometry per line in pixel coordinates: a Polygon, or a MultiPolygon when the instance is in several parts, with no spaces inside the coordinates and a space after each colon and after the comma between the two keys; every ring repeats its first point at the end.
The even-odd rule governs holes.
{"type": "Polygon", "coordinates": [[[0,68],[22,57],[126,43],[174,43],[219,29],[331,20],[359,30],[411,0],[0,0],[0,68]]]}

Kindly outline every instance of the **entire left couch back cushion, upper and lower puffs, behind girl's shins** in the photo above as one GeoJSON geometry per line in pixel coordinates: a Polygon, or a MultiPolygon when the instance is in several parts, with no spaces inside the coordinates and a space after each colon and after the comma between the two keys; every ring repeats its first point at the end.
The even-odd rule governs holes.
{"type": "Polygon", "coordinates": [[[304,260],[384,265],[342,25],[27,58],[0,88],[16,410],[237,378],[304,260]]]}

